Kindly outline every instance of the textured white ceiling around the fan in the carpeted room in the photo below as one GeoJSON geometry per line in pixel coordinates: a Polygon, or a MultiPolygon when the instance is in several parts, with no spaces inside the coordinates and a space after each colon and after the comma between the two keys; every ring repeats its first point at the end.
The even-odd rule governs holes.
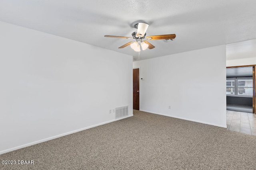
{"type": "Polygon", "coordinates": [[[156,48],[140,59],[256,39],[256,0],[0,0],[0,21],[134,56],[118,47],[149,23],[147,35],[176,34],[175,41],[150,41],[156,48]]]}

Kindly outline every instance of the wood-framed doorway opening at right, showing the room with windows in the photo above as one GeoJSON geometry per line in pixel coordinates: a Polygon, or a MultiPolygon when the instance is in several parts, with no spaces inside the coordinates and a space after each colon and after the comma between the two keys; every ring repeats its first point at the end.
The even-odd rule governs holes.
{"type": "Polygon", "coordinates": [[[255,65],[227,67],[227,110],[255,113],[255,101],[255,65]]]}

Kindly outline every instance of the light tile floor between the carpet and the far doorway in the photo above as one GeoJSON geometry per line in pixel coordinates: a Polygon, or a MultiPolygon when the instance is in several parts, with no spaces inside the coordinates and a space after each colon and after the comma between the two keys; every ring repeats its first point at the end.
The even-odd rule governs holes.
{"type": "Polygon", "coordinates": [[[227,130],[256,135],[256,114],[226,111],[227,130]]]}

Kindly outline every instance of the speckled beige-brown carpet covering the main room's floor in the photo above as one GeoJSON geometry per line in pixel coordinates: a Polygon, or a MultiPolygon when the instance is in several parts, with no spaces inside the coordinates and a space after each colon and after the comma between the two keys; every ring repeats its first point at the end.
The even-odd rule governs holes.
{"type": "Polygon", "coordinates": [[[9,170],[256,169],[256,136],[162,115],[134,116],[0,155],[9,170]]]}

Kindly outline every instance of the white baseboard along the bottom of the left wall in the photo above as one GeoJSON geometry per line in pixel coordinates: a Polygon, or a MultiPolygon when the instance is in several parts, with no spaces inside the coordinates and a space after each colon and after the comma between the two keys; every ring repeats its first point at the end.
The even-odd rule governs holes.
{"type": "Polygon", "coordinates": [[[62,133],[62,134],[60,134],[60,135],[56,135],[56,136],[49,137],[49,138],[46,138],[46,139],[42,139],[42,140],[39,140],[39,141],[35,141],[35,142],[27,143],[27,144],[24,144],[24,145],[20,145],[20,146],[18,146],[18,147],[14,147],[14,148],[2,150],[2,151],[0,151],[0,154],[4,154],[4,153],[7,153],[7,152],[11,152],[11,151],[13,151],[13,150],[17,150],[17,149],[22,149],[22,148],[25,148],[25,147],[29,147],[29,146],[31,146],[31,145],[36,145],[36,144],[38,144],[38,143],[50,141],[50,140],[56,139],[56,138],[58,138],[58,137],[63,137],[63,136],[66,136],[66,135],[70,135],[70,134],[72,134],[72,133],[76,133],[76,132],[79,132],[79,131],[83,131],[83,130],[86,130],[86,129],[90,129],[90,128],[92,128],[92,127],[104,125],[104,124],[106,124],[106,123],[111,123],[111,122],[113,122],[113,121],[118,121],[118,120],[120,120],[120,119],[125,119],[125,118],[127,118],[127,117],[132,117],[132,116],[133,116],[133,115],[128,115],[128,116],[126,116],[126,117],[122,117],[122,118],[119,118],[119,119],[114,119],[114,120],[106,121],[106,122],[99,123],[99,124],[96,124],[96,125],[84,127],[84,128],[82,128],[82,129],[77,129],[77,130],[74,130],[74,131],[70,131],[70,132],[67,132],[67,133],[62,133]]]}

